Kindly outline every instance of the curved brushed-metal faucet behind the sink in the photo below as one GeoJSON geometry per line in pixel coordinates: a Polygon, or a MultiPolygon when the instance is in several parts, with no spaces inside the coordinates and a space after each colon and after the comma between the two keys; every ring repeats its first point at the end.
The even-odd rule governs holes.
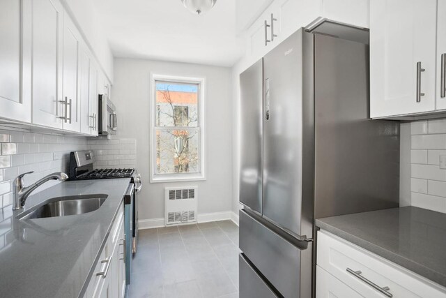
{"type": "Polygon", "coordinates": [[[24,186],[23,183],[23,177],[26,174],[31,174],[31,172],[26,172],[24,174],[20,174],[17,176],[17,178],[14,179],[14,185],[13,185],[13,197],[14,197],[14,204],[13,204],[13,210],[20,210],[23,209],[25,205],[25,201],[28,198],[28,196],[39,186],[44,184],[46,181],[49,180],[59,180],[59,181],[65,181],[68,179],[68,175],[63,172],[55,172],[52,174],[49,174],[42,179],[38,180],[35,184],[31,186],[24,186]]]}

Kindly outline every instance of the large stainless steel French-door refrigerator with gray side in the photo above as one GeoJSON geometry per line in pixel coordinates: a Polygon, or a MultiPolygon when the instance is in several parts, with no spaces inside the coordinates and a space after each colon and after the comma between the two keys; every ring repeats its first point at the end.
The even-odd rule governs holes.
{"type": "Polygon", "coordinates": [[[240,298],[312,297],[314,218],[399,205],[399,123],[369,119],[357,30],[300,29],[240,75],[240,298]]]}

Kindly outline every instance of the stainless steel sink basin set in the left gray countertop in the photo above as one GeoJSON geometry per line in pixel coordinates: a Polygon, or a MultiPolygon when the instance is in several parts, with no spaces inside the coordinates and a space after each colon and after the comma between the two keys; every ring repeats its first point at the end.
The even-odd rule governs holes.
{"type": "Polygon", "coordinates": [[[18,216],[20,219],[47,218],[86,214],[95,211],[104,204],[107,195],[75,195],[71,197],[52,198],[40,207],[31,209],[18,216]]]}

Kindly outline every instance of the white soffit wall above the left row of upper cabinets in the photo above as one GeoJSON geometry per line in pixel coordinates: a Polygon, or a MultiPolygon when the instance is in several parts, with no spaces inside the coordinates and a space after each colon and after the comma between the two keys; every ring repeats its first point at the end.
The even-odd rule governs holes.
{"type": "Polygon", "coordinates": [[[102,70],[113,83],[113,54],[92,0],[62,0],[82,35],[86,38],[102,70]]]}

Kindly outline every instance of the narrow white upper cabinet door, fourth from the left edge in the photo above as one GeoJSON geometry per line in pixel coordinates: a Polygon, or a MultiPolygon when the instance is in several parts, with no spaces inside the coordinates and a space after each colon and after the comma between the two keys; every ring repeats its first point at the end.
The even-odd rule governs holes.
{"type": "Polygon", "coordinates": [[[82,47],[79,56],[79,105],[81,133],[91,133],[93,118],[90,117],[90,55],[85,47],[82,47]]]}

